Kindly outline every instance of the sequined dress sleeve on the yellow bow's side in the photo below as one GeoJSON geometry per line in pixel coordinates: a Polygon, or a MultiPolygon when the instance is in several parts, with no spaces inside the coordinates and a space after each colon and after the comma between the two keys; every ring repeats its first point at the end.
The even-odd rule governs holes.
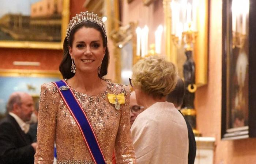
{"type": "Polygon", "coordinates": [[[117,164],[136,164],[130,131],[130,89],[128,86],[125,86],[124,94],[125,104],[120,109],[121,118],[115,142],[116,162],[117,164]]]}

